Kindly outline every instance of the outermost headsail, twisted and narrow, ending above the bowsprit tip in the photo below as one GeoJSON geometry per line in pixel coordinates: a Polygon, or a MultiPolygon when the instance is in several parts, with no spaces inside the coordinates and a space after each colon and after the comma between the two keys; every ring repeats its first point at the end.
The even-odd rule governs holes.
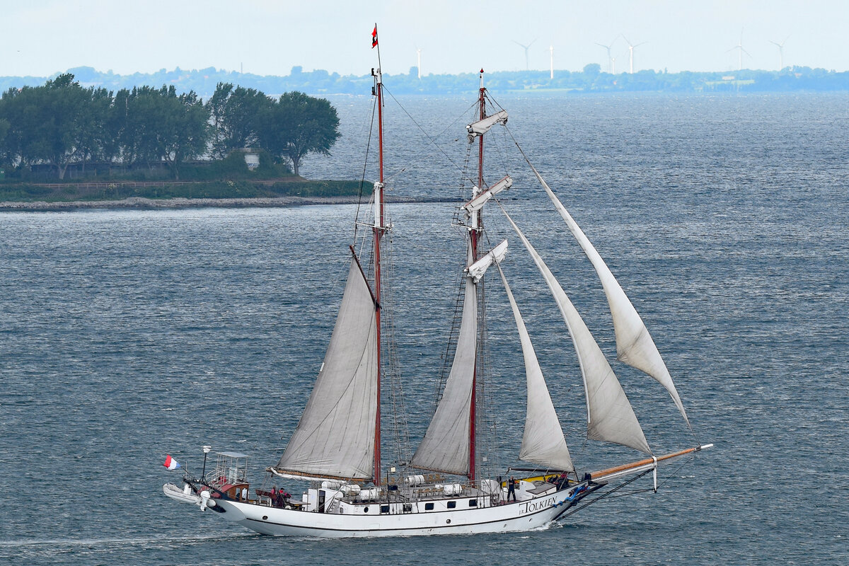
{"type": "Polygon", "coordinates": [[[672,383],[672,376],[669,375],[669,370],[666,369],[666,364],[661,358],[661,353],[657,351],[655,341],[651,339],[649,329],[645,328],[643,319],[639,316],[637,310],[633,307],[631,300],[627,298],[625,291],[621,285],[613,277],[610,268],[604,263],[604,260],[596,251],[589,238],[583,233],[572,219],[569,211],[565,209],[563,203],[554,195],[548,183],[543,180],[543,177],[537,172],[537,169],[531,165],[534,175],[537,176],[539,182],[543,184],[545,192],[548,193],[548,198],[554,204],[554,207],[563,217],[566,226],[569,227],[572,235],[581,245],[584,254],[587,255],[589,261],[593,264],[595,271],[599,274],[601,285],[604,288],[604,294],[607,295],[607,303],[610,305],[610,315],[613,317],[613,328],[616,332],[616,357],[619,361],[627,363],[631,367],[636,367],[638,370],[649,374],[655,378],[658,383],[666,387],[669,395],[672,395],[672,401],[678,406],[678,411],[684,417],[684,421],[689,426],[687,413],[684,412],[684,406],[681,403],[681,398],[678,397],[678,391],[675,389],[675,384],[672,383]]]}

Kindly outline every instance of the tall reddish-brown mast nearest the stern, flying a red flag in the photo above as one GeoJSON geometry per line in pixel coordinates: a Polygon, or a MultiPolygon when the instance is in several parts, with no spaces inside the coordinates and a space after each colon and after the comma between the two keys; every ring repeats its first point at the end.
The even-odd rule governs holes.
{"type": "Polygon", "coordinates": [[[380,485],[380,239],[385,232],[384,182],[383,182],[383,80],[380,72],[380,45],[377,40],[377,24],[372,32],[372,48],[377,47],[376,70],[373,94],[377,97],[378,163],[379,180],[374,183],[374,317],[377,323],[377,415],[374,423],[374,485],[380,485]]]}

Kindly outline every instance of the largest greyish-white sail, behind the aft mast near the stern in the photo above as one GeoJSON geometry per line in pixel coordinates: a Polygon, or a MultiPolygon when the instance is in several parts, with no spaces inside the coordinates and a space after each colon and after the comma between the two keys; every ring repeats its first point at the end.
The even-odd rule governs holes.
{"type": "Polygon", "coordinates": [[[316,476],[371,479],[377,416],[374,298],[351,261],[339,316],[321,371],[277,468],[316,476]]]}

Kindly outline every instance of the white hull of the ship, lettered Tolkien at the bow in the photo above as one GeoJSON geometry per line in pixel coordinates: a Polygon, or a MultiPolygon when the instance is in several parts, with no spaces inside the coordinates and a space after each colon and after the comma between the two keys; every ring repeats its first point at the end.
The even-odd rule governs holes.
{"type": "MultiPolygon", "coordinates": [[[[247,502],[218,501],[224,518],[263,535],[326,538],[472,535],[534,530],[569,508],[570,490],[493,507],[419,513],[345,515],[280,509],[247,502]]],[[[375,510],[380,506],[373,506],[375,510]]]]}

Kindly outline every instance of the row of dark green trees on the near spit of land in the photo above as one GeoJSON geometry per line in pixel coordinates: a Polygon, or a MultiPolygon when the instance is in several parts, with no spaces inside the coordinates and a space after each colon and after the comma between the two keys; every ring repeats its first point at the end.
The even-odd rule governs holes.
{"type": "Polygon", "coordinates": [[[268,97],[220,82],[204,102],[173,85],[82,87],[66,73],[38,87],[10,87],[0,98],[0,163],[24,171],[49,164],[59,179],[70,164],[180,165],[233,149],[259,148],[295,175],[307,154],[329,154],[339,137],[336,109],[303,92],[268,97]]]}

